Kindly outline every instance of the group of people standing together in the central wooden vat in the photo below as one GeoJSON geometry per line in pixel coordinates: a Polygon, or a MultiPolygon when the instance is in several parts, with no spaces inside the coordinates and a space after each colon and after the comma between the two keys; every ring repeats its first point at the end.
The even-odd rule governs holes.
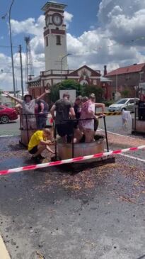
{"type": "Polygon", "coordinates": [[[105,105],[95,103],[95,94],[88,97],[76,97],[74,106],[69,101],[69,94],[55,102],[50,110],[54,119],[57,133],[64,143],[91,142],[94,140],[95,131],[98,128],[98,119],[95,116],[95,108],[102,109],[104,115],[105,105]]]}

